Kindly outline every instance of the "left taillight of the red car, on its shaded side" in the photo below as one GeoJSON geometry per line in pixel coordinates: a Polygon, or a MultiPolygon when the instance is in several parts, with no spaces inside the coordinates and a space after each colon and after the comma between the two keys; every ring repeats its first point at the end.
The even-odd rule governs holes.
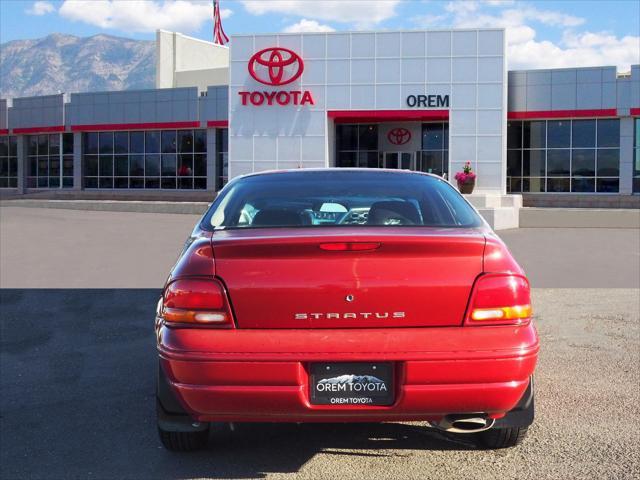
{"type": "Polygon", "coordinates": [[[170,283],[162,300],[162,318],[169,324],[233,326],[227,295],[215,279],[184,279],[170,283]]]}

